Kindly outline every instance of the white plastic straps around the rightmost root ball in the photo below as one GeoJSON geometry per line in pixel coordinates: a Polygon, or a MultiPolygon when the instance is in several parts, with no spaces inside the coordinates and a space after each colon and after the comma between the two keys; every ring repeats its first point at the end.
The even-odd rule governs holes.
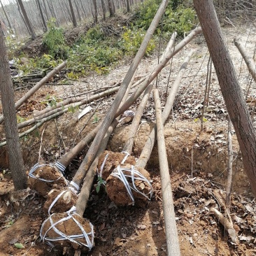
{"type": "Polygon", "coordinates": [[[125,188],[129,194],[129,197],[131,198],[131,201],[133,204],[134,204],[134,196],[133,196],[131,190],[134,190],[135,192],[142,194],[143,197],[147,198],[148,200],[151,199],[152,185],[151,185],[150,181],[147,178],[145,178],[145,176],[143,176],[139,171],[137,171],[133,165],[131,166],[131,169],[122,168],[120,165],[118,165],[118,167],[115,168],[115,170],[111,173],[111,175],[114,176],[115,178],[120,179],[122,181],[122,183],[124,183],[125,188]],[[123,171],[128,171],[131,174],[130,175],[125,174],[123,171]],[[132,187],[131,187],[131,185],[129,185],[127,178],[131,178],[132,187]],[[141,180],[145,183],[148,183],[148,185],[150,186],[150,192],[148,192],[148,194],[144,194],[143,192],[139,191],[135,185],[135,180],[141,180]]]}

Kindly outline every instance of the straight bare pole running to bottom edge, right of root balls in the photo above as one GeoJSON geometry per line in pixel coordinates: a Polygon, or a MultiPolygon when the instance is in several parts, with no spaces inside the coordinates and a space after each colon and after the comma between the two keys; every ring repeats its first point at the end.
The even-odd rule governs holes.
{"type": "Polygon", "coordinates": [[[155,99],[155,114],[157,119],[157,146],[160,165],[160,178],[162,186],[162,199],[164,209],[164,226],[166,234],[167,255],[180,256],[180,244],[176,227],[171,179],[164,141],[164,121],[162,120],[161,101],[157,89],[153,90],[155,99]]]}

